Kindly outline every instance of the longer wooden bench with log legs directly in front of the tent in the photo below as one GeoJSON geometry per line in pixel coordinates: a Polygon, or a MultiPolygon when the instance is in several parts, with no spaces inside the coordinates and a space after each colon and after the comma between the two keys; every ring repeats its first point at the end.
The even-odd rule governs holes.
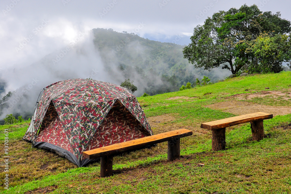
{"type": "Polygon", "coordinates": [[[175,131],[168,131],[157,135],[84,151],[83,156],[89,160],[101,157],[100,177],[108,177],[112,175],[113,155],[168,141],[168,160],[173,160],[180,157],[180,138],[191,135],[192,131],[187,129],[178,129],[175,131]]]}

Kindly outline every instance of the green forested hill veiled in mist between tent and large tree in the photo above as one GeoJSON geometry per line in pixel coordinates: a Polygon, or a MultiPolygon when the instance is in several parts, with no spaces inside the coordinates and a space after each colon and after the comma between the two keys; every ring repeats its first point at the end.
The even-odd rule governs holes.
{"type": "MultiPolygon", "coordinates": [[[[196,78],[208,76],[212,82],[229,73],[217,69],[201,71],[183,58],[184,46],[141,38],[134,33],[119,33],[112,29],[93,29],[94,44],[106,68],[112,75],[134,80],[139,91],[149,95],[172,92],[196,78]]],[[[136,94],[140,95],[140,94],[136,94]]]]}

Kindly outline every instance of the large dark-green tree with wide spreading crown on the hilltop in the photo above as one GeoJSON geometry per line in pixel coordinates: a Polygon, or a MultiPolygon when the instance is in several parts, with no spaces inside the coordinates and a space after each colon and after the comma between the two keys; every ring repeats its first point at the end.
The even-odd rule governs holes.
{"type": "Polygon", "coordinates": [[[221,67],[236,74],[240,69],[265,67],[261,65],[263,56],[253,50],[257,38],[263,33],[271,38],[290,31],[290,21],[282,19],[279,12],[263,13],[256,5],[245,4],[239,9],[214,13],[203,25],[196,26],[183,54],[196,68],[212,70],[221,67]]]}

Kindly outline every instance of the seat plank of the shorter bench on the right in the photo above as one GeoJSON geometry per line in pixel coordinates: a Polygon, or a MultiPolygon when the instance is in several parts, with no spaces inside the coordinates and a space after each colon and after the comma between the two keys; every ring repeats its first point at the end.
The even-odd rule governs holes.
{"type": "Polygon", "coordinates": [[[265,119],[271,119],[271,118],[273,118],[273,114],[258,112],[258,113],[251,113],[251,114],[240,115],[236,117],[230,117],[230,118],[225,118],[221,120],[202,123],[200,127],[203,129],[208,129],[208,130],[216,130],[216,129],[222,129],[225,127],[231,127],[237,124],[243,124],[247,122],[265,120],[265,119]]]}

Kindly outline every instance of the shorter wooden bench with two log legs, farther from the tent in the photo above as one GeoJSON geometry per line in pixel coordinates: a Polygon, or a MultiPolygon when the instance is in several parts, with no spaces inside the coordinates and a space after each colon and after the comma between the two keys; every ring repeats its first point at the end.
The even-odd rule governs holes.
{"type": "Polygon", "coordinates": [[[226,127],[251,122],[253,141],[260,141],[264,137],[263,120],[271,118],[272,114],[258,112],[202,123],[201,128],[212,131],[212,151],[218,151],[225,149],[226,127]]]}

